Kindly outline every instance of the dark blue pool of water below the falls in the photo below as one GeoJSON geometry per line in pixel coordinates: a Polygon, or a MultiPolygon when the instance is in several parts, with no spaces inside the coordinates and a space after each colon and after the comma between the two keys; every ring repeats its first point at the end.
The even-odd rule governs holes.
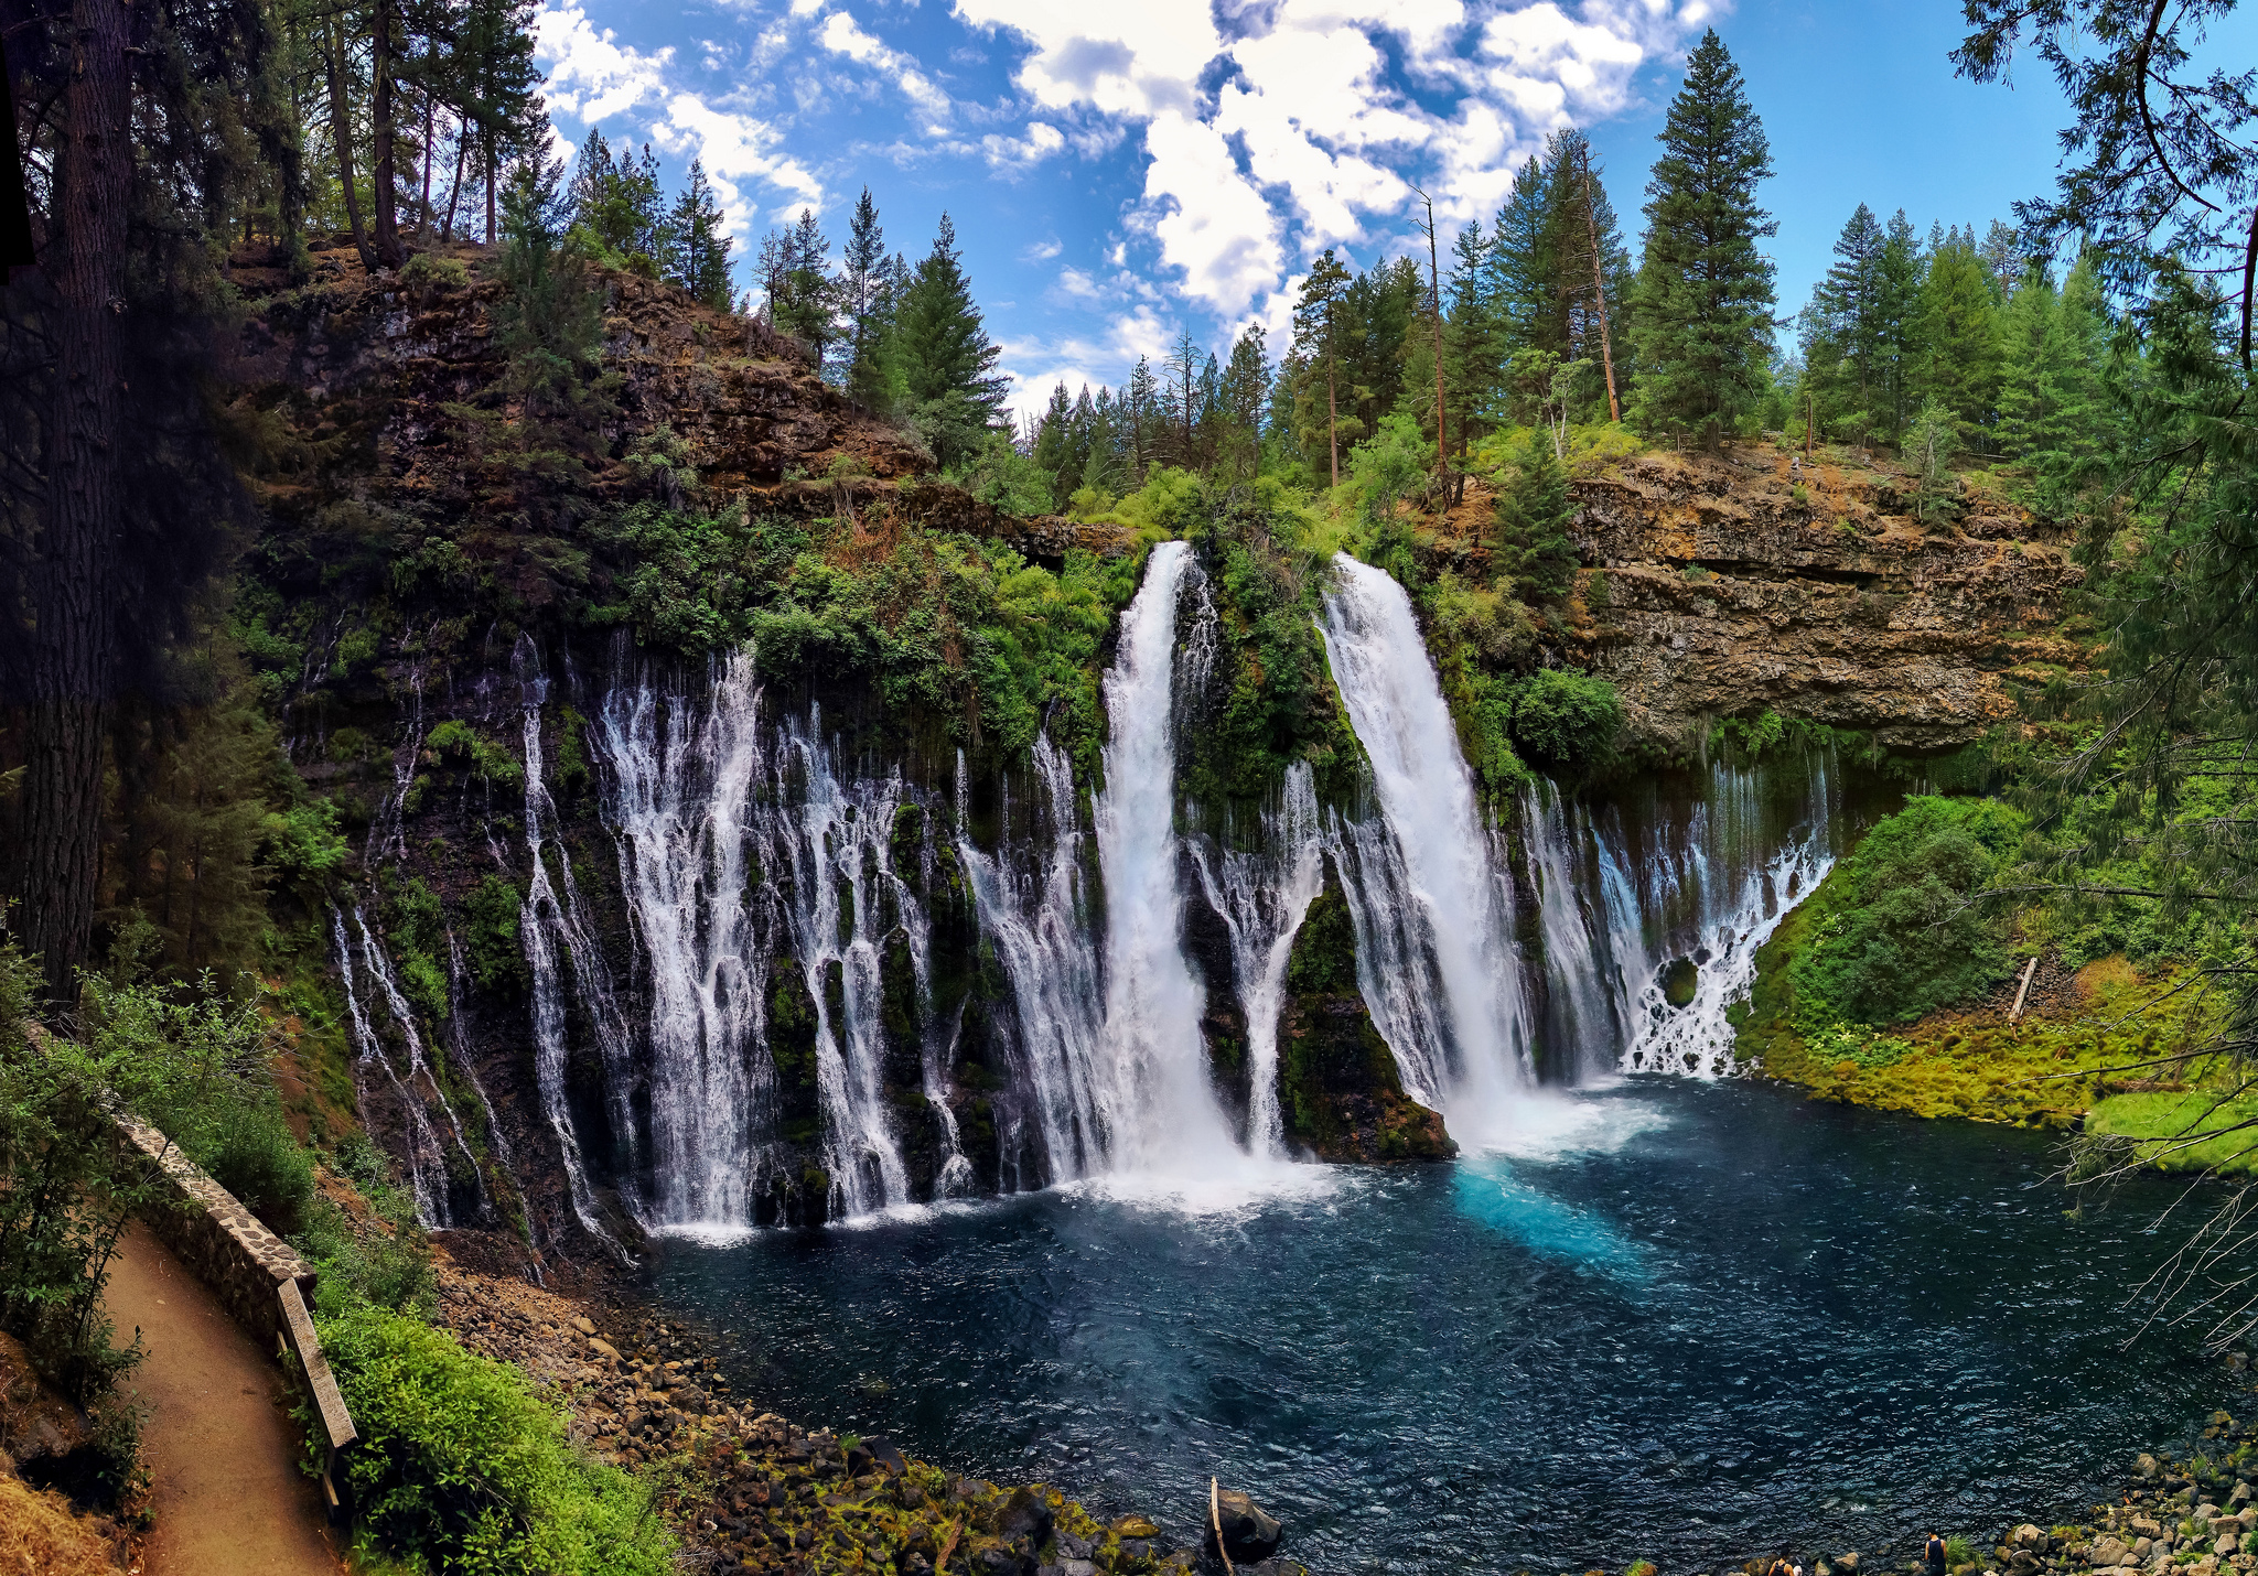
{"type": "Polygon", "coordinates": [[[2231,1377],[2125,1294],[2174,1183],[2055,1142],[1630,1079],[1504,1154],[1068,1188],[723,1246],[655,1296],[738,1393],[1192,1542],[1208,1474],[1348,1571],[1705,1571],[2084,1515],[2231,1377]]]}

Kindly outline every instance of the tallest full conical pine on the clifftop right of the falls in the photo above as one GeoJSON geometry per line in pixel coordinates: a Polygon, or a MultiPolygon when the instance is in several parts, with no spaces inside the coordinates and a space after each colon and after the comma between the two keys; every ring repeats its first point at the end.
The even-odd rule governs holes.
{"type": "Polygon", "coordinates": [[[1687,61],[1660,140],[1646,183],[1635,409],[1648,431],[1689,431],[1714,447],[1763,391],[1773,262],[1757,242],[1779,230],[1757,205],[1770,145],[1714,27],[1687,61]]]}

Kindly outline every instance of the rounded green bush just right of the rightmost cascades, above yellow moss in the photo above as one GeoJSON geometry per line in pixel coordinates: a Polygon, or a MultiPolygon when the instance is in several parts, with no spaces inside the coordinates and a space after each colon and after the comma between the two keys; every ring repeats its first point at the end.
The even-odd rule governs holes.
{"type": "Polygon", "coordinates": [[[1797,1027],[1913,1023],[2010,971],[2003,923],[1969,899],[2023,835],[1996,799],[1910,797],[1874,824],[1822,887],[1795,960],[1797,1027]]]}

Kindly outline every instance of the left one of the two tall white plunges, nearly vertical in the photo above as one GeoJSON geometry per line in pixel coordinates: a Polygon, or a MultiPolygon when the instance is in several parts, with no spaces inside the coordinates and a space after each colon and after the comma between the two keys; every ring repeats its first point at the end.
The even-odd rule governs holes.
{"type": "Polygon", "coordinates": [[[1176,840],[1176,598],[1192,549],[1161,542],[1122,614],[1104,677],[1104,790],[1093,795],[1106,883],[1104,1068],[1113,1170],[1181,1176],[1237,1158],[1208,1082],[1201,989],[1183,957],[1176,840]]]}

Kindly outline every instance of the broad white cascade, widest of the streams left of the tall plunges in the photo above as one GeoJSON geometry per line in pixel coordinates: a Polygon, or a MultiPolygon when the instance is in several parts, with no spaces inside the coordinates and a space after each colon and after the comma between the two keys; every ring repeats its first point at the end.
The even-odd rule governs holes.
{"type": "Polygon", "coordinates": [[[619,878],[650,960],[650,1219],[752,1224],[752,1133],[768,1129],[768,948],[747,905],[745,815],[765,765],[752,655],[714,664],[704,707],[648,680],[596,709],[619,878]]]}

